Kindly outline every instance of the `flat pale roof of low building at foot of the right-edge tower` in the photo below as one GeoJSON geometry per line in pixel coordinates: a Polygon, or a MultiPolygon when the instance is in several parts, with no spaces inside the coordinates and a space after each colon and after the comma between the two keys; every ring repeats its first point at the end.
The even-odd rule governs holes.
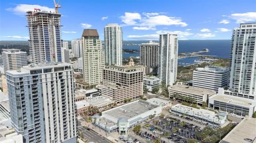
{"type": "Polygon", "coordinates": [[[221,94],[212,96],[210,97],[210,99],[218,100],[220,102],[225,102],[229,104],[235,104],[238,106],[245,106],[245,107],[250,107],[253,103],[253,99],[247,99],[247,98],[236,97],[231,95],[221,95],[221,94]]]}

